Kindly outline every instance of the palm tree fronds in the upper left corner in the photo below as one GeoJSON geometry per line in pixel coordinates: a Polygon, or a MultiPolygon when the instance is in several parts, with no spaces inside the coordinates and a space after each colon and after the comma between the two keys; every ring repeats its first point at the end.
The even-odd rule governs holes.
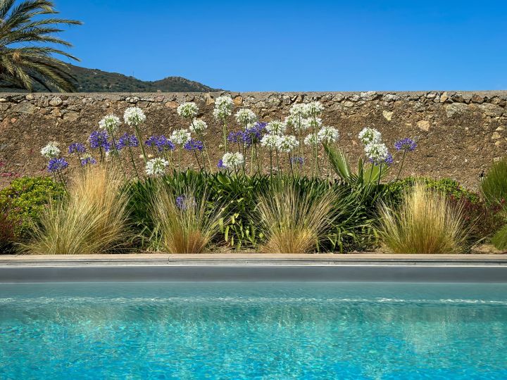
{"type": "Polygon", "coordinates": [[[35,83],[48,91],[75,91],[69,66],[55,55],[79,61],[58,49],[72,44],[55,37],[60,25],[80,21],[55,18],[53,1],[0,0],[0,87],[33,91],[35,83]],[[49,15],[49,16],[48,16],[49,15]]]}

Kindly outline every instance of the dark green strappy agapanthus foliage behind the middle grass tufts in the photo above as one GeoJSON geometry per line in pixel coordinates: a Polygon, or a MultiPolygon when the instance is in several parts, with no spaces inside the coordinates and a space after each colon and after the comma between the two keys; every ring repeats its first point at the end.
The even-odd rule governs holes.
{"type": "MultiPolygon", "coordinates": [[[[273,191],[280,182],[291,182],[301,196],[312,198],[323,191],[333,189],[336,200],[332,207],[332,225],[327,229],[327,238],[320,241],[319,251],[359,251],[377,244],[377,233],[373,224],[377,220],[376,203],[381,192],[377,186],[360,186],[357,189],[342,182],[310,177],[274,177],[269,175],[231,175],[227,172],[208,173],[187,170],[173,172],[160,179],[151,178],[130,183],[125,190],[130,194],[130,219],[137,235],[139,246],[158,249],[161,236],[156,229],[156,220],[149,212],[149,200],[156,194],[160,180],[173,189],[174,194],[184,194],[189,187],[195,189],[196,198],[206,189],[208,210],[220,204],[223,213],[219,220],[220,232],[214,243],[227,244],[234,248],[256,248],[265,238],[256,210],[260,196],[273,191]]],[[[383,185],[378,186],[382,189],[383,185]]]]}

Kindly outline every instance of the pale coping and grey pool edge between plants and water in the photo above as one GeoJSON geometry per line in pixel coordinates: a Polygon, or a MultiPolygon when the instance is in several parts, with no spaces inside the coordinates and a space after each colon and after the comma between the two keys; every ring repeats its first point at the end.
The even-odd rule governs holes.
{"type": "Polygon", "coordinates": [[[1,282],[507,282],[507,255],[0,255],[1,282]]]}

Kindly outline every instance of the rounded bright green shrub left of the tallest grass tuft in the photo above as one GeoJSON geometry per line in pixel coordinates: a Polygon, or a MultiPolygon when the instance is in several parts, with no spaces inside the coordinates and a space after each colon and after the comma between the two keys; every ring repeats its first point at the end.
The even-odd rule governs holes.
{"type": "Polygon", "coordinates": [[[30,226],[39,220],[51,200],[65,194],[65,188],[50,177],[21,177],[0,190],[0,210],[7,213],[16,239],[26,239],[30,226]]]}

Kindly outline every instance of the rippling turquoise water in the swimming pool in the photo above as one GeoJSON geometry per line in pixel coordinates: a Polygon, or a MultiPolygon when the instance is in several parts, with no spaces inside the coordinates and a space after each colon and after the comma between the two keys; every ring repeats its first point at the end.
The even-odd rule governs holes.
{"type": "Polygon", "coordinates": [[[507,379],[507,285],[0,284],[0,379],[507,379]]]}

